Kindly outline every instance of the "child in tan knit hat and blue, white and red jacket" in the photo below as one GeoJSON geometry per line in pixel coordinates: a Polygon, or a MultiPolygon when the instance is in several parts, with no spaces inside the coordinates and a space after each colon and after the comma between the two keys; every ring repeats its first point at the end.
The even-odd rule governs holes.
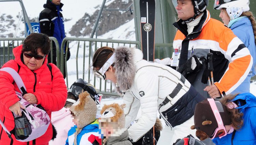
{"type": "Polygon", "coordinates": [[[76,126],[69,130],[66,145],[101,145],[97,105],[87,91],[79,95],[70,111],[76,126]]]}

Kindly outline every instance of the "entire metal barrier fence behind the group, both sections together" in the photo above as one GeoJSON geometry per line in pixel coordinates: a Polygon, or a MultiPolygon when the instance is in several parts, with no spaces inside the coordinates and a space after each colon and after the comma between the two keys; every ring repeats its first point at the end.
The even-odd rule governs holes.
{"type": "MultiPolygon", "coordinates": [[[[51,40],[51,59],[53,59],[53,44],[58,44],[58,41],[54,37],[49,37],[51,40]]],[[[23,44],[25,38],[0,38],[0,65],[11,59],[14,59],[12,50],[13,48],[23,44]]],[[[100,93],[103,95],[118,96],[114,87],[110,81],[104,81],[96,78],[90,70],[90,64],[92,63],[92,56],[94,52],[102,47],[109,46],[116,48],[117,46],[135,47],[141,49],[141,43],[139,41],[124,41],[124,40],[108,40],[108,39],[93,39],[93,38],[65,38],[59,48],[56,46],[57,55],[57,67],[64,73],[66,70],[66,83],[69,88],[70,85],[78,78],[83,78],[87,82],[93,84],[100,93]],[[64,47],[69,46],[71,49],[70,60],[65,61],[64,47]],[[61,52],[61,53],[60,53],[61,52]],[[65,66],[65,67],[64,67],[65,66]],[[70,84],[70,85],[69,85],[70,84]]],[[[67,47],[65,48],[67,50],[67,47]]],[[[167,49],[172,49],[172,44],[155,44],[155,58],[165,58],[169,56],[166,54],[167,49]]]]}

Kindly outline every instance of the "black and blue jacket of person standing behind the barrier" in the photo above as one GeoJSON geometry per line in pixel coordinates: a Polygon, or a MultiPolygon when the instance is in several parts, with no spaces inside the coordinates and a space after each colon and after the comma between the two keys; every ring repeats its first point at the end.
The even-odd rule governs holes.
{"type": "Polygon", "coordinates": [[[59,46],[61,46],[62,40],[66,37],[64,30],[64,18],[60,11],[63,3],[60,5],[53,4],[50,0],[44,4],[44,10],[39,15],[39,24],[41,33],[48,35],[49,37],[55,37],[59,46]]]}

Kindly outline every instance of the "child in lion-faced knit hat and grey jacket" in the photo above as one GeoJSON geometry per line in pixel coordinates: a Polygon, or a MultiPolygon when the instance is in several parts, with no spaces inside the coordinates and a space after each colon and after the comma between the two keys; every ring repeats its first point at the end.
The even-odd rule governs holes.
{"type": "Polygon", "coordinates": [[[125,129],[125,104],[104,104],[99,118],[102,145],[132,145],[128,140],[128,131],[125,129]]]}

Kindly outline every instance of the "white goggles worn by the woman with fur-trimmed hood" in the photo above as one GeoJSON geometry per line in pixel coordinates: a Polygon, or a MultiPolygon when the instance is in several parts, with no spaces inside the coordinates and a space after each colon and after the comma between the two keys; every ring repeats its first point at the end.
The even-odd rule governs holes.
{"type": "Polygon", "coordinates": [[[94,71],[94,74],[101,78],[106,80],[105,72],[109,69],[109,67],[115,62],[115,53],[105,62],[105,64],[100,68],[98,71],[94,71]]]}

